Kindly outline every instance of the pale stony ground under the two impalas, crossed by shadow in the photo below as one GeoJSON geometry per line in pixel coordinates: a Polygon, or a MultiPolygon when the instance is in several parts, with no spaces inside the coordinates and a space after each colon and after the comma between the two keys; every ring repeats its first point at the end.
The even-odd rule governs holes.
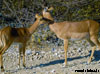
{"type": "Polygon", "coordinates": [[[100,70],[100,51],[97,48],[94,58],[87,64],[91,46],[86,40],[69,42],[68,66],[63,67],[64,48],[54,44],[31,45],[26,50],[26,68],[18,66],[18,46],[12,45],[3,55],[5,72],[0,74],[100,74],[100,72],[75,72],[75,70],[100,70]]]}

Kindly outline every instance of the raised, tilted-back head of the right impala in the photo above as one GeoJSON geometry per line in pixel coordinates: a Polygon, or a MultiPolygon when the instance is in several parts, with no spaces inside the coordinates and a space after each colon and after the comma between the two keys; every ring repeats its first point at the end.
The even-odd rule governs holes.
{"type": "Polygon", "coordinates": [[[53,17],[51,16],[52,11],[54,10],[53,7],[45,7],[42,14],[44,18],[50,19],[50,20],[54,20],[53,17]]]}

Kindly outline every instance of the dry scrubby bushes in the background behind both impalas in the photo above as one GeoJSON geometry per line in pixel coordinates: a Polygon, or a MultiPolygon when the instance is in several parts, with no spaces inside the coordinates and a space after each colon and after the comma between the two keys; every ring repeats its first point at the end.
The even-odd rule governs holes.
{"type": "MultiPolygon", "coordinates": [[[[100,19],[99,0],[45,0],[48,6],[55,10],[52,15],[56,22],[59,21],[80,21],[85,19],[100,19]]],[[[34,15],[43,9],[44,0],[1,0],[0,2],[0,25],[12,27],[28,27],[34,22],[34,15]]],[[[41,42],[49,40],[54,43],[59,41],[51,33],[47,26],[40,26],[34,33],[33,41],[41,42]],[[50,38],[52,36],[52,38],[50,38]]],[[[61,41],[61,40],[60,40],[61,41]]],[[[59,45],[59,44],[58,44],[59,45]]]]}

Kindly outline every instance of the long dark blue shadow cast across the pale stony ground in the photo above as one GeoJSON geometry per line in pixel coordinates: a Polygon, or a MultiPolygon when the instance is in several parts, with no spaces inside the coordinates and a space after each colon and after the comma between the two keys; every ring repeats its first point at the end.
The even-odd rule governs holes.
{"type": "MultiPolygon", "coordinates": [[[[89,57],[90,56],[90,54],[91,54],[91,51],[89,51],[89,55],[86,55],[86,56],[78,56],[78,57],[73,57],[73,58],[67,58],[67,60],[68,61],[73,61],[73,60],[76,60],[76,59],[82,59],[82,58],[87,58],[87,57],[89,57]]],[[[94,59],[92,60],[92,62],[93,61],[99,61],[100,60],[100,51],[99,50],[96,50],[95,52],[94,52],[94,59]]],[[[87,62],[87,61],[86,61],[87,62]]],[[[86,63],[86,62],[81,62],[80,64],[84,64],[84,63],[86,63]]],[[[31,66],[31,67],[26,67],[26,68],[24,68],[24,69],[33,69],[33,68],[37,68],[37,67],[46,67],[46,66],[50,66],[50,65],[55,65],[55,64],[62,64],[62,63],[64,63],[64,59],[61,59],[61,60],[54,60],[54,61],[50,61],[49,63],[45,63],[45,64],[39,64],[39,65],[36,65],[36,66],[31,66]]],[[[79,63],[77,63],[77,64],[79,64],[79,63]]],[[[75,65],[77,65],[77,64],[75,64],[75,65]]],[[[74,65],[74,66],[75,66],[74,65]]],[[[13,70],[13,71],[10,71],[10,72],[12,72],[12,73],[14,73],[14,72],[17,72],[17,71],[19,71],[19,70],[22,70],[22,69],[16,69],[16,70],[13,70]]],[[[9,71],[8,71],[9,72],[9,71]]]]}

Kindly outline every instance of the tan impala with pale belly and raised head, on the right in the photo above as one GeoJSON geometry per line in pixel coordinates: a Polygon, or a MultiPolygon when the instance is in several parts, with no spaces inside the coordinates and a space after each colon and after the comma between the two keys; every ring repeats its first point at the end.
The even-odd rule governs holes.
{"type": "Polygon", "coordinates": [[[69,39],[83,39],[87,40],[92,45],[92,54],[88,60],[91,62],[96,45],[100,48],[100,42],[98,41],[99,23],[93,20],[83,20],[80,22],[54,22],[54,18],[51,16],[50,11],[53,7],[46,7],[42,14],[46,21],[49,23],[50,29],[57,35],[58,38],[64,40],[64,51],[65,51],[65,66],[67,65],[67,48],[69,39]]]}

